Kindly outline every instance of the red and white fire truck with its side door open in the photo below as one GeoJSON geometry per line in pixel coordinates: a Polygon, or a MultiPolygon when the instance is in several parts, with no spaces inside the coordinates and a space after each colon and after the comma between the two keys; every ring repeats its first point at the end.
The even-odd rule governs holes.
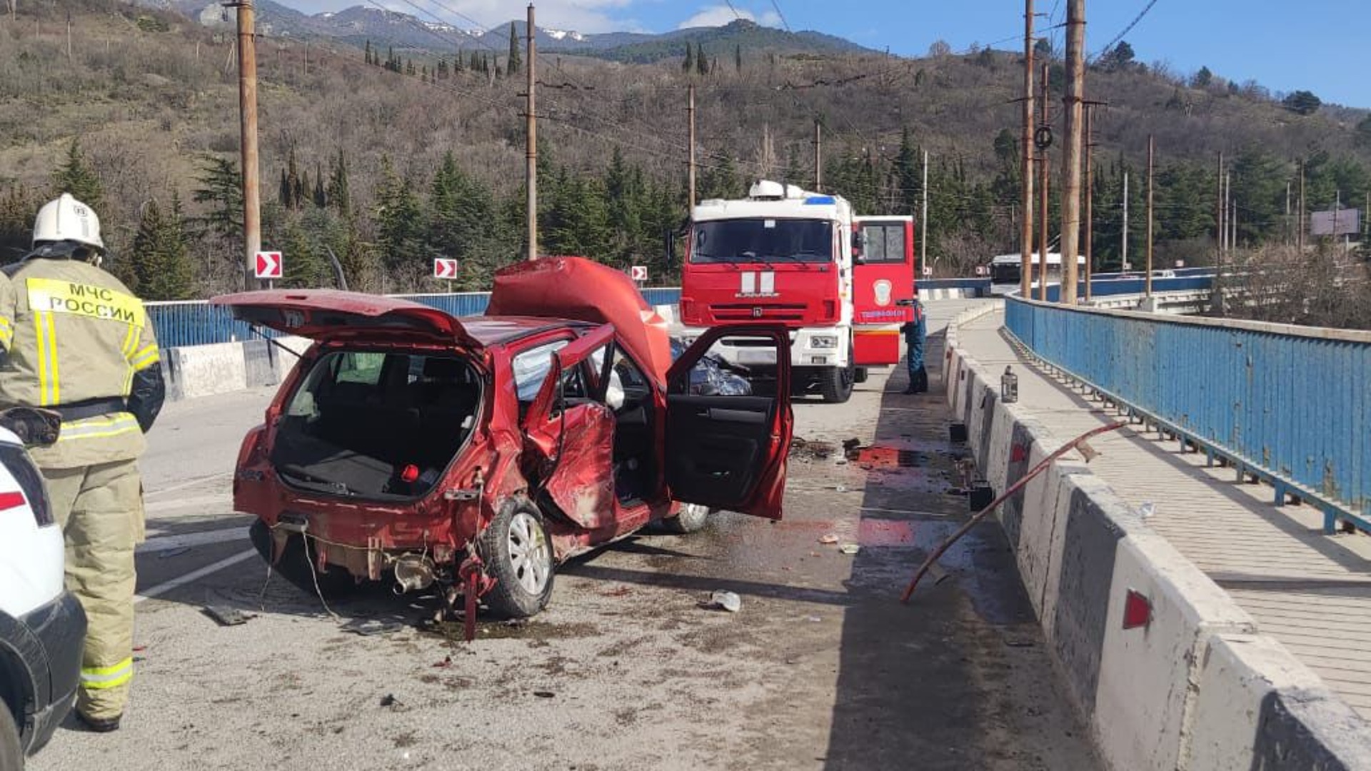
{"type": "MultiPolygon", "coordinates": [[[[680,318],[687,337],[718,324],[791,327],[797,395],[846,402],[871,366],[899,361],[913,320],[912,217],[857,217],[836,195],[761,181],[743,200],[703,200],[691,213],[680,318]]],[[[751,370],[773,350],[723,346],[751,370]]]]}

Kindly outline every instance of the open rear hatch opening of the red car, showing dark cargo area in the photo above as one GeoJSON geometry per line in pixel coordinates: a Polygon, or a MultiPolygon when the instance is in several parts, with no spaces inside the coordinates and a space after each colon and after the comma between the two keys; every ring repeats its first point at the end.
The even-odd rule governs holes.
{"type": "Polygon", "coordinates": [[[466,442],[480,403],[480,377],[465,359],[328,353],[291,396],[271,462],[307,490],[424,495],[466,442]]]}

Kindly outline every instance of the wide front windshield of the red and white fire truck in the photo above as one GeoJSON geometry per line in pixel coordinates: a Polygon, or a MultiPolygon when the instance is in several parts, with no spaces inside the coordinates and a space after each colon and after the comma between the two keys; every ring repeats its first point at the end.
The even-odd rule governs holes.
{"type": "Polygon", "coordinates": [[[695,222],[690,261],[832,262],[834,225],[827,220],[712,220],[695,222]]]}

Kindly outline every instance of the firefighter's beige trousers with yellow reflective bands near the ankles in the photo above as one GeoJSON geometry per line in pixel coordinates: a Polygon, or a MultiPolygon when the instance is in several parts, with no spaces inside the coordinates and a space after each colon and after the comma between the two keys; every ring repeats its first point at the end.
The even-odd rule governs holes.
{"type": "Polygon", "coordinates": [[[86,613],[77,711],[123,715],[133,679],[133,550],[143,541],[138,461],[43,469],[67,543],[67,589],[86,613]]]}

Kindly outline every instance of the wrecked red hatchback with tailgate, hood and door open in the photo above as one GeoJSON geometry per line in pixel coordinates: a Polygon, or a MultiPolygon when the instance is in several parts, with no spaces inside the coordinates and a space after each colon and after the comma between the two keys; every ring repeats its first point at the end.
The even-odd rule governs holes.
{"type": "Polygon", "coordinates": [[[233,480],[258,550],[310,593],[436,583],[469,617],[477,597],[531,616],[558,564],[648,523],[781,516],[787,366],[728,395],[691,370],[725,339],[788,362],[783,328],[710,329],[673,362],[632,281],[580,258],[499,272],[476,317],[329,289],[210,302],[314,340],[233,480]]]}

